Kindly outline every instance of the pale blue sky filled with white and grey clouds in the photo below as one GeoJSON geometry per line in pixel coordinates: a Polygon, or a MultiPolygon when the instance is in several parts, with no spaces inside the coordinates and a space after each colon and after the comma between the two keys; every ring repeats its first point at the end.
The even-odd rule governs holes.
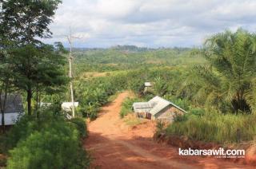
{"type": "Polygon", "coordinates": [[[213,33],[255,32],[255,0],[63,0],[50,25],[62,41],[71,27],[75,47],[193,47],[213,33]]]}

